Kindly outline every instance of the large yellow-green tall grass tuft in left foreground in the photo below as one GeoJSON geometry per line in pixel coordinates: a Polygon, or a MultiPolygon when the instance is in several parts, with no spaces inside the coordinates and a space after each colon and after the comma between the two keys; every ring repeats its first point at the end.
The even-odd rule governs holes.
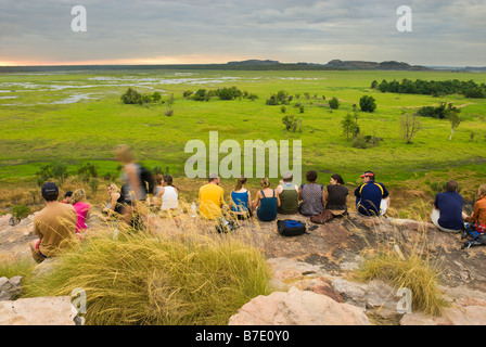
{"type": "Polygon", "coordinates": [[[87,294],[87,324],[227,324],[269,272],[256,248],[226,235],[119,234],[87,239],[31,278],[27,296],[87,294]]]}

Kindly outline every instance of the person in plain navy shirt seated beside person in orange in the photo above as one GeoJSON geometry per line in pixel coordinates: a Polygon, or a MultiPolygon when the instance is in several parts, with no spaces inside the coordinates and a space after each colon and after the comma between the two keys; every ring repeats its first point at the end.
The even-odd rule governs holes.
{"type": "Polygon", "coordinates": [[[450,180],[446,183],[446,192],[435,196],[432,222],[442,231],[460,232],[464,227],[462,219],[462,195],[458,193],[458,183],[450,180]]]}

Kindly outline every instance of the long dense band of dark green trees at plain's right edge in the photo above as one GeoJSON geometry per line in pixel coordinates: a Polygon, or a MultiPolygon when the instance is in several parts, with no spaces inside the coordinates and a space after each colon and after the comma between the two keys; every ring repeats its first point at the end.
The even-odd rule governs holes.
{"type": "Polygon", "coordinates": [[[404,78],[401,82],[397,80],[387,81],[383,79],[381,83],[373,80],[371,88],[381,92],[404,93],[404,94],[425,94],[425,95],[447,95],[463,94],[465,98],[486,98],[486,85],[477,85],[473,80],[460,81],[453,80],[410,80],[404,78]]]}

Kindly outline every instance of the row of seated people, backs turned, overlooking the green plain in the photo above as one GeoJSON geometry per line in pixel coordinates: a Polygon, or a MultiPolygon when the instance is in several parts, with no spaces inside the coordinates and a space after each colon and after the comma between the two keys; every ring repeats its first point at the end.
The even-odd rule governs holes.
{"type": "MultiPolygon", "coordinates": [[[[366,217],[385,216],[389,207],[389,193],[383,183],[375,181],[372,171],[360,176],[362,184],[355,190],[356,210],[366,217]]],[[[239,178],[230,192],[229,204],[225,203],[225,192],[219,185],[218,175],[212,175],[208,183],[199,190],[199,213],[202,218],[215,220],[228,211],[233,218],[244,220],[256,217],[260,221],[273,221],[278,215],[300,214],[317,216],[324,209],[334,216],[347,215],[348,189],[343,178],[335,174],[331,176],[327,187],[317,183],[318,174],[310,170],[306,174],[307,183],[297,187],[293,183],[291,174],[285,174],[276,188],[270,180],[260,180],[261,189],[252,200],[250,190],[245,188],[246,178],[239,178]]],[[[104,208],[106,219],[113,215],[124,216],[133,202],[127,201],[127,195],[114,183],[106,187],[110,204],[104,208]]],[[[486,224],[486,184],[477,191],[479,198],[474,204],[474,213],[468,216],[463,213],[463,198],[458,193],[458,183],[450,180],[446,192],[436,195],[431,219],[442,231],[460,232],[464,222],[486,224]]],[[[62,241],[73,235],[82,240],[88,230],[86,223],[90,215],[90,205],[85,202],[82,189],[67,192],[59,201],[59,188],[53,182],[47,182],[41,188],[46,207],[34,217],[34,234],[39,237],[30,243],[34,259],[38,262],[54,256],[62,241]]],[[[174,216],[180,213],[179,190],[172,185],[168,175],[157,177],[154,195],[146,202],[156,207],[157,214],[174,216]]]]}

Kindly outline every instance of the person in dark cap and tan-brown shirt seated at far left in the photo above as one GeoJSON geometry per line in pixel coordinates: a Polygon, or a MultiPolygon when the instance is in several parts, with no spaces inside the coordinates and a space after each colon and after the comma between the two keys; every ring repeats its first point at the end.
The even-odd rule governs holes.
{"type": "Polygon", "coordinates": [[[63,241],[76,235],[77,215],[73,205],[57,202],[59,188],[47,182],[41,188],[46,207],[34,217],[34,234],[39,237],[30,243],[33,257],[37,262],[55,256],[63,241]]]}

